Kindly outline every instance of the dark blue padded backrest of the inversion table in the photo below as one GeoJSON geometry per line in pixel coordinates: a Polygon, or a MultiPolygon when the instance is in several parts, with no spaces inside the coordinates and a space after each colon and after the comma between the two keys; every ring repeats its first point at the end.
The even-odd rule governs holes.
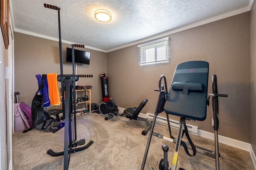
{"type": "Polygon", "coordinates": [[[176,66],[164,104],[171,115],[204,121],[206,119],[209,63],[188,61],[176,66]]]}

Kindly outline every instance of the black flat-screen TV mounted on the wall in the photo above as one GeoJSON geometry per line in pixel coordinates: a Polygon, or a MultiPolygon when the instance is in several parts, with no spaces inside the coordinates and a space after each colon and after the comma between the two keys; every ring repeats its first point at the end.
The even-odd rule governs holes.
{"type": "MultiPolygon", "coordinates": [[[[90,64],[90,52],[74,49],[75,63],[77,64],[90,64]]],[[[66,49],[66,63],[72,63],[72,49],[66,49]]]]}

